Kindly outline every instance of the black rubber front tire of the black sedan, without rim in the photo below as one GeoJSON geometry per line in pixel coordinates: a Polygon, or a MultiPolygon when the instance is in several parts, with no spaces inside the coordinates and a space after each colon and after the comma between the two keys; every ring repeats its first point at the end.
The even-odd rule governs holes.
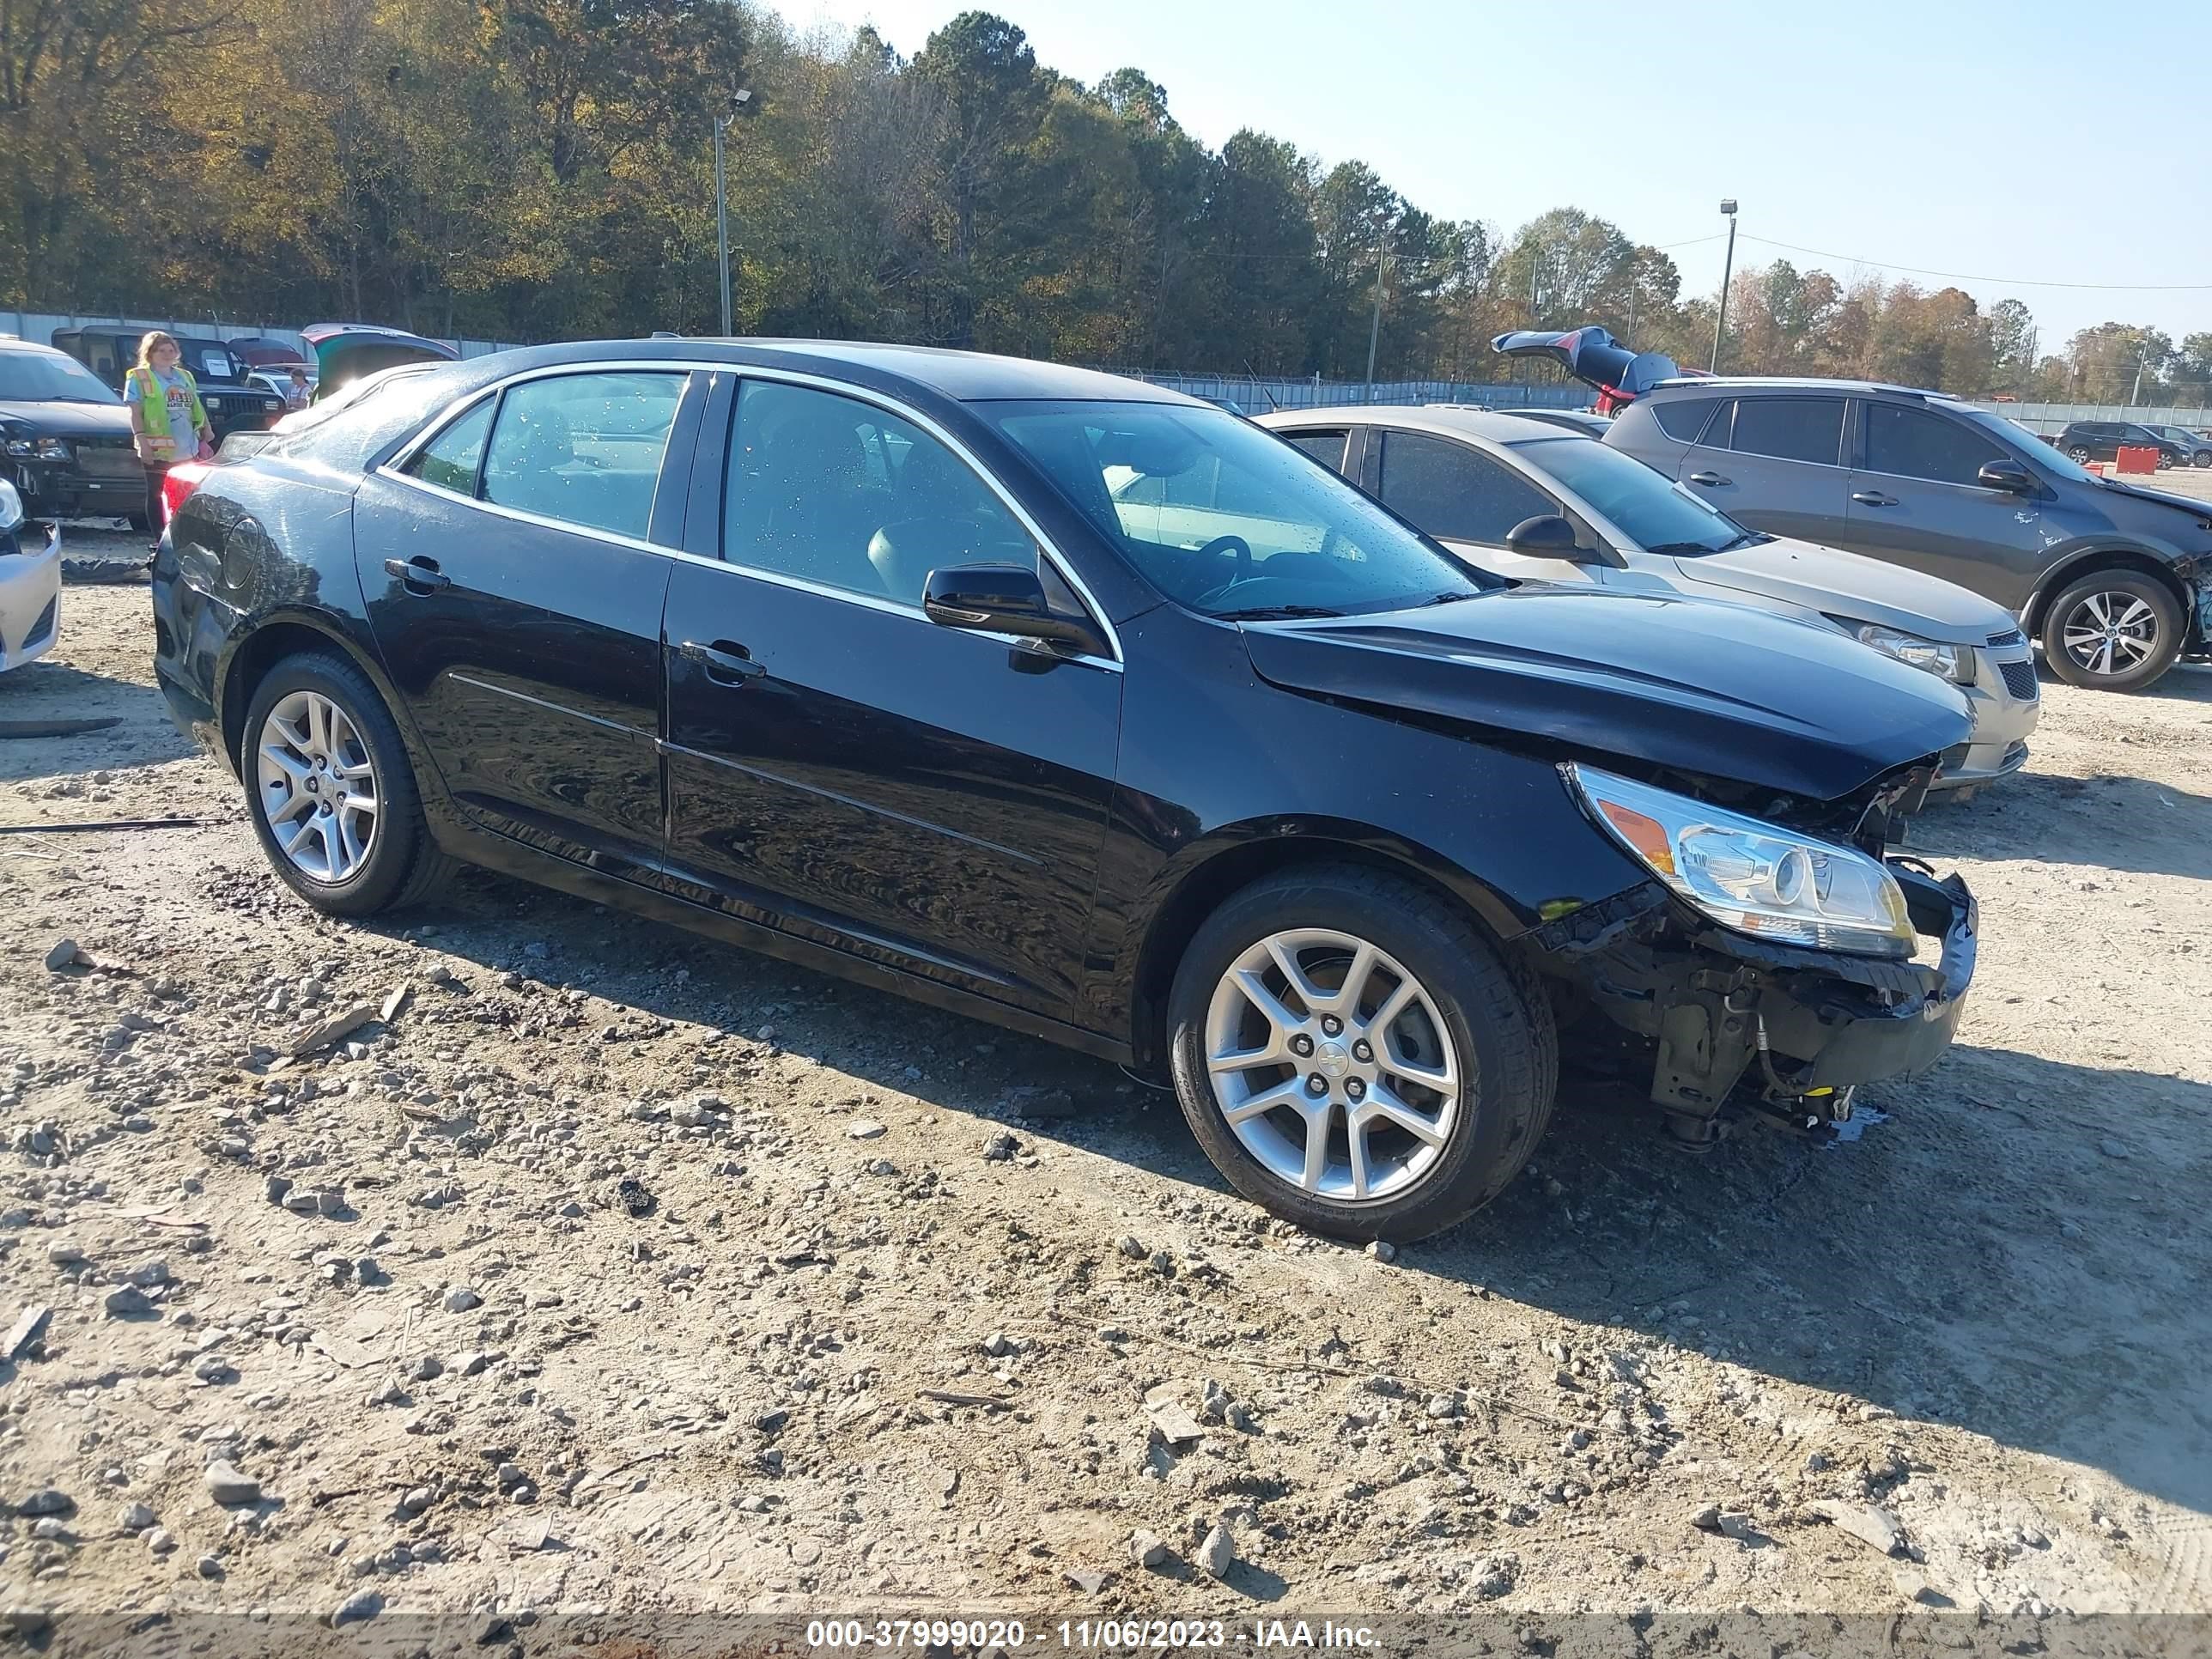
{"type": "Polygon", "coordinates": [[[1559,1086],[1559,1040],[1537,978],[1436,894],[1343,865],[1259,880],[1199,927],[1168,998],[1168,1057],[1190,1133],[1230,1183],[1285,1221],[1336,1239],[1425,1239],[1480,1210],[1528,1161],[1559,1086]],[[1303,1192],[1267,1170],[1223,1117],[1206,1066],[1214,989],[1239,956],[1287,929],[1349,933],[1402,964],[1467,1057],[1453,1128],[1427,1172],[1396,1197],[1358,1203],[1303,1192]]]}

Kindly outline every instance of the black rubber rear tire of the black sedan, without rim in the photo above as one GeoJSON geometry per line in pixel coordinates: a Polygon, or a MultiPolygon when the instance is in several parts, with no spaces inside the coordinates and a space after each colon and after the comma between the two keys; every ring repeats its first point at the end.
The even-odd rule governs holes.
{"type": "Polygon", "coordinates": [[[310,650],[285,657],[261,677],[246,708],[239,779],[246,787],[246,816],[252,818],[254,836],[261,841],[270,867],[285,887],[325,916],[374,916],[418,905],[453,874],[453,858],[431,841],[429,825],[422,823],[422,794],[414,768],[407,763],[407,745],[400,741],[398,726],[392,723],[392,712],[367,677],[343,657],[310,650]],[[345,712],[367,748],[376,774],[376,832],[369,836],[367,858],[345,880],[319,880],[292,863],[270,830],[268,801],[263,801],[257,776],[254,757],[270,710],[301,690],[321,692],[345,712]]]}

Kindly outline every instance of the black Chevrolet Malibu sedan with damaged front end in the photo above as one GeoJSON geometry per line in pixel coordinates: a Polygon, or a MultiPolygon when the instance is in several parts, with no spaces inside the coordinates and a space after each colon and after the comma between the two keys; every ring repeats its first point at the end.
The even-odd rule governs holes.
{"type": "Polygon", "coordinates": [[[310,905],[467,860],[1073,1044],[1343,1237],[1491,1199],[1562,1029],[1683,1139],[1818,1128],[1942,1053],[1973,967],[1964,885],[1885,863],[1966,737],[1947,686],[1469,573],[1102,374],[748,341],[396,369],[215,467],[153,606],[310,905]]]}

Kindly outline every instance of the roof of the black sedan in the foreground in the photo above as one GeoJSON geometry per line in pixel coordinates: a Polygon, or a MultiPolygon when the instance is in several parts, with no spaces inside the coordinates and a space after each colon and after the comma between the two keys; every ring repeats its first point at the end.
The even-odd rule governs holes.
{"type": "Polygon", "coordinates": [[[883,345],[874,341],[787,341],[787,338],[679,338],[679,341],[573,341],[566,345],[531,345],[495,356],[469,358],[471,367],[493,367],[500,374],[560,367],[568,363],[604,363],[619,358],[657,358],[668,363],[754,363],[768,369],[814,372],[874,385],[878,392],[925,389],[953,403],[998,403],[1011,398],[1113,400],[1113,403],[1179,403],[1210,409],[1203,398],[1130,380],[1097,369],[1071,369],[1062,363],[1033,363],[1020,356],[989,352],[953,352],[938,345],[883,345]]]}

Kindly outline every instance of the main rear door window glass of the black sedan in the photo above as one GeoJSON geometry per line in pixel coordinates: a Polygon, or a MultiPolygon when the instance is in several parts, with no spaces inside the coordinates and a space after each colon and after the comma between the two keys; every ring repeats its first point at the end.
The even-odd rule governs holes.
{"type": "Polygon", "coordinates": [[[482,498],[562,524],[644,540],[681,374],[560,374],[507,387],[482,498]]]}

